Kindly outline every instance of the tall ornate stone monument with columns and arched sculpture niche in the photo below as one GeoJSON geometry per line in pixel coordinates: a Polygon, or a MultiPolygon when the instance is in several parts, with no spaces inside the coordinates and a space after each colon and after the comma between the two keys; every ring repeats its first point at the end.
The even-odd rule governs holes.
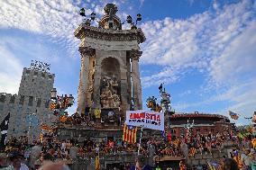
{"type": "Polygon", "coordinates": [[[105,15],[97,27],[87,20],[74,33],[80,40],[81,55],[78,113],[85,113],[87,106],[101,110],[118,108],[121,115],[127,110],[142,109],[139,44],[145,36],[135,25],[131,30],[122,30],[116,12],[115,4],[106,4],[105,15]]]}

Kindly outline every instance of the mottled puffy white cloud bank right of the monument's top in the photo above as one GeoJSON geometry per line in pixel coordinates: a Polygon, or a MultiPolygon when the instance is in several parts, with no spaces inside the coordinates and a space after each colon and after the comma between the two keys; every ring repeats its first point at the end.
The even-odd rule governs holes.
{"type": "MultiPolygon", "coordinates": [[[[206,73],[212,79],[213,62],[224,55],[234,39],[254,24],[253,11],[255,3],[252,5],[251,1],[242,1],[218,7],[216,10],[211,8],[186,20],[172,20],[167,17],[161,21],[145,22],[142,30],[147,40],[142,44],[141,62],[143,65],[157,64],[163,67],[163,73],[166,67],[171,67],[175,70],[175,75],[169,74],[169,83],[174,83],[170,76],[179,80],[186,70],[191,69],[206,73]]],[[[159,79],[168,78],[166,75],[157,74],[152,75],[152,79],[142,79],[151,79],[151,83],[146,82],[147,85],[157,85],[154,78],[156,76],[159,79]]]]}

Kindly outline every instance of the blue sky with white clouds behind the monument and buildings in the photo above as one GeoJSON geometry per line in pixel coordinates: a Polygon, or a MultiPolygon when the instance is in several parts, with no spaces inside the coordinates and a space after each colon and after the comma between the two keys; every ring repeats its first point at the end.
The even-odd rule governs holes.
{"type": "Polygon", "coordinates": [[[50,64],[59,94],[77,98],[79,9],[100,18],[107,3],[117,5],[122,21],[142,14],[143,109],[149,96],[160,102],[163,83],[176,112],[233,111],[241,115],[237,124],[250,122],[244,117],[256,111],[255,0],[2,0],[0,92],[17,94],[33,59],[50,64]]]}

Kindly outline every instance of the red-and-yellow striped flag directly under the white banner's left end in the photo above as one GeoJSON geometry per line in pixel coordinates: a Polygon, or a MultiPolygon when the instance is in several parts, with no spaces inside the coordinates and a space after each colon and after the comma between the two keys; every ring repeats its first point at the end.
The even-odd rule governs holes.
{"type": "Polygon", "coordinates": [[[123,125],[123,141],[128,143],[136,143],[137,127],[123,125]]]}

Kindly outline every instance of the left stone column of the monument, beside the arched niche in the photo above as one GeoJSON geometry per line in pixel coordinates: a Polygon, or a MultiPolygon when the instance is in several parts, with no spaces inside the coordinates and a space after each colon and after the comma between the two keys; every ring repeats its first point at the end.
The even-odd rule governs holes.
{"type": "Polygon", "coordinates": [[[94,55],[94,49],[83,47],[79,48],[81,55],[81,68],[78,85],[78,113],[84,113],[87,104],[87,88],[89,75],[89,57],[94,55]]]}

